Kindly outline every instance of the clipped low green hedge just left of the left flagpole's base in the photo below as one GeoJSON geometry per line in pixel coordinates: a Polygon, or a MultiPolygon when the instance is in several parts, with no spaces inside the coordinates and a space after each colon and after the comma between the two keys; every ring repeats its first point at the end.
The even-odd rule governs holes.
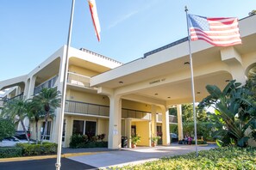
{"type": "Polygon", "coordinates": [[[28,144],[17,143],[17,147],[22,148],[22,155],[54,155],[57,153],[58,145],[56,143],[28,144]]]}

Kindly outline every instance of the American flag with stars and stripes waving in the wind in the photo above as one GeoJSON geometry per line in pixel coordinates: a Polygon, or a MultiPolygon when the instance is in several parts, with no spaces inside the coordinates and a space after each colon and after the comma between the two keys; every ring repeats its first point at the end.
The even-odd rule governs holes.
{"type": "Polygon", "coordinates": [[[208,18],[188,15],[190,39],[203,39],[213,46],[241,44],[237,18],[208,18]]]}

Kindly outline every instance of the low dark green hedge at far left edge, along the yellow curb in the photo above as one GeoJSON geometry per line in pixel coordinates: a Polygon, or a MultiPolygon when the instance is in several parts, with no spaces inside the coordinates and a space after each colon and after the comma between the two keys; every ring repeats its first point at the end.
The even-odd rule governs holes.
{"type": "Polygon", "coordinates": [[[0,158],[11,158],[22,156],[22,148],[19,147],[2,147],[0,148],[0,158]]]}

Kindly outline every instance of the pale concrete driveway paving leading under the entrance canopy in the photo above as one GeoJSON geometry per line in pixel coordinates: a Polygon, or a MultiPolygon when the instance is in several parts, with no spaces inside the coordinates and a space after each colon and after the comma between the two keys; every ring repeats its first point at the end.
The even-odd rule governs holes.
{"type": "MultiPolygon", "coordinates": [[[[215,145],[198,146],[199,150],[215,148],[215,145]]],[[[122,167],[130,164],[140,164],[146,161],[155,161],[159,158],[173,155],[184,155],[195,151],[194,145],[157,146],[154,148],[138,147],[136,149],[112,150],[111,152],[99,152],[95,155],[71,156],[69,159],[78,161],[92,167],[122,167]]]]}

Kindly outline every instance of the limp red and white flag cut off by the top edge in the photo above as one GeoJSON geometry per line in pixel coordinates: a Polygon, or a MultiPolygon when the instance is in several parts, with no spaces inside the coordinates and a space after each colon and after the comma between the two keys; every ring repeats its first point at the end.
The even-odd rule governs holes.
{"type": "Polygon", "coordinates": [[[99,20],[98,20],[98,15],[97,15],[96,2],[95,2],[95,0],[88,0],[88,3],[89,3],[90,11],[91,11],[91,19],[92,19],[92,22],[93,22],[95,33],[97,35],[97,40],[100,41],[100,39],[101,39],[101,37],[100,37],[101,27],[100,27],[100,23],[99,23],[99,20]]]}

